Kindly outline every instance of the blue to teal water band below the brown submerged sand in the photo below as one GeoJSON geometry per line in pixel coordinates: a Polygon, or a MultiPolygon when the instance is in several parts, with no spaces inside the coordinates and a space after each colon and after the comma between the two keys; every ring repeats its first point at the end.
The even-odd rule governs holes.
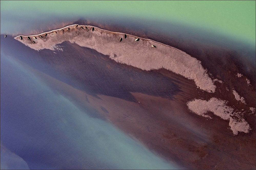
{"type": "Polygon", "coordinates": [[[176,169],[1,54],[1,143],[30,169],[176,169]]]}

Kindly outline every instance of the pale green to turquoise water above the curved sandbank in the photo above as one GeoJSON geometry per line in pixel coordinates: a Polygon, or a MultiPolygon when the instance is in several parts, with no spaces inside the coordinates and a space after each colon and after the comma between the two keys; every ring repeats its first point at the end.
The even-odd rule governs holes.
{"type": "Polygon", "coordinates": [[[1,1],[1,33],[79,17],[177,22],[255,45],[255,1],[1,1]]]}

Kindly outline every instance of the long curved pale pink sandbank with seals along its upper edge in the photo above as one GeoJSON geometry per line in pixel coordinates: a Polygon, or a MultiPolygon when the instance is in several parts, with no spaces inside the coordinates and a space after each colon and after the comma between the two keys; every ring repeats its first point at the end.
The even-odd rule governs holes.
{"type": "Polygon", "coordinates": [[[38,35],[19,35],[15,39],[37,51],[42,49],[62,51],[63,48],[58,44],[70,41],[109,55],[118,63],[142,70],[165,68],[194,80],[196,85],[204,91],[211,93],[216,89],[199,60],[177,48],[150,39],[84,25],[70,25],[38,35]],[[121,41],[120,38],[122,38],[121,41]],[[139,40],[135,41],[136,39],[139,40]]]}

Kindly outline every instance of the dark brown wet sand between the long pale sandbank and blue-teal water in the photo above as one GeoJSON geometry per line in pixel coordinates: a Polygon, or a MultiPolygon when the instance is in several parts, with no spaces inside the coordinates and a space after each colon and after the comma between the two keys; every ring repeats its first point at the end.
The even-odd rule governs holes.
{"type": "Polygon", "coordinates": [[[215,67],[213,62],[206,62],[218,56],[200,60],[202,68],[210,70],[212,82],[222,81],[215,81],[216,91],[209,93],[197,88],[193,79],[168,69],[147,71],[118,63],[111,55],[81,47],[79,43],[58,44],[63,51],[35,51],[12,37],[3,41],[1,35],[1,49],[6,54],[18,56],[54,90],[74,100],[81,109],[89,109],[91,116],[113,123],[167,160],[189,169],[255,169],[255,112],[250,109],[255,108],[255,80],[239,62],[230,60],[231,69],[227,70],[223,60],[216,61],[215,67]],[[10,47],[12,50],[7,50],[10,47]],[[244,76],[238,77],[238,72],[244,76]],[[235,98],[232,89],[246,104],[235,98]],[[204,113],[211,119],[199,116],[187,106],[195,99],[212,98],[227,101],[227,106],[241,112],[232,118],[243,118],[250,125],[248,133],[239,131],[234,135],[228,120],[213,112],[204,113]]]}

